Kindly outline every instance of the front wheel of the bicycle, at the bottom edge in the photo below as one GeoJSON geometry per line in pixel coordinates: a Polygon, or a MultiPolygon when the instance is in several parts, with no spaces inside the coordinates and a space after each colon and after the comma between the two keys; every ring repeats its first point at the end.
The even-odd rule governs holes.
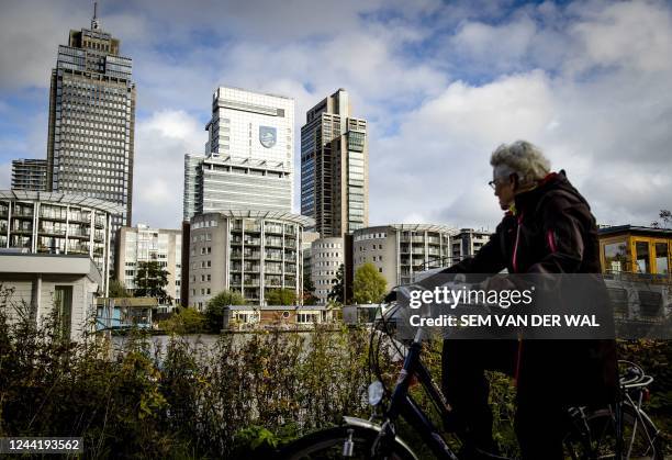
{"type": "MultiPolygon", "coordinates": [[[[340,426],[312,433],[296,439],[280,451],[280,458],[285,460],[309,459],[343,459],[344,446],[352,435],[352,455],[348,459],[371,459],[371,446],[378,431],[357,426],[340,426]]],[[[404,447],[394,442],[391,460],[414,459],[404,447]]]]}

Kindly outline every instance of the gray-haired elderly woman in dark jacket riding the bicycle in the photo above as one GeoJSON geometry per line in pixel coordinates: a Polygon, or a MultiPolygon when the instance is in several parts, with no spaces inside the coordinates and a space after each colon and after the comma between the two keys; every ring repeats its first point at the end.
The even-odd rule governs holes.
{"type": "MultiPolygon", "coordinates": [[[[533,144],[518,141],[492,154],[490,186],[506,211],[496,233],[452,273],[598,273],[597,228],[585,199],[564,171],[533,144]]],[[[446,340],[444,391],[455,429],[471,455],[494,451],[484,370],[517,384],[516,434],[524,459],[561,459],[569,406],[613,401],[617,372],[613,340],[446,340]]],[[[469,453],[469,452],[466,452],[469,453]]]]}

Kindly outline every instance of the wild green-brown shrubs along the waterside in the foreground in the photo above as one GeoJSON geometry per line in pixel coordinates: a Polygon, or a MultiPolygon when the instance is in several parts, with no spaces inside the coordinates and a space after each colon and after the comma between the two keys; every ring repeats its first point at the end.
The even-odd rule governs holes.
{"type": "MultiPolygon", "coordinates": [[[[368,330],[223,334],[209,346],[172,335],[154,351],[146,335],[131,334],[113,350],[104,336],[64,340],[55,316],[40,327],[30,315],[10,323],[10,294],[0,288],[0,437],[81,436],[89,458],[272,458],[276,446],[344,414],[370,414],[368,330]]],[[[183,308],[175,323],[187,329],[190,315],[200,314],[183,308]]],[[[433,343],[423,355],[436,378],[439,350],[433,343]]],[[[624,343],[621,355],[657,378],[647,411],[669,426],[669,343],[624,343]]],[[[401,363],[381,359],[391,388],[401,363]]],[[[489,378],[496,440],[515,452],[511,379],[489,378]]],[[[411,391],[440,426],[421,389],[411,391]]],[[[418,434],[403,422],[399,430],[425,458],[418,434]]]]}

